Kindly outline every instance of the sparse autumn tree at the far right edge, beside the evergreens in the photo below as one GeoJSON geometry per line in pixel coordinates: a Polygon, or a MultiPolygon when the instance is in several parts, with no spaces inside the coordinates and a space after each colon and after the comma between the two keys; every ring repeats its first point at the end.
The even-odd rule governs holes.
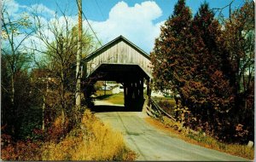
{"type": "Polygon", "coordinates": [[[254,2],[246,1],[241,9],[230,13],[230,19],[224,24],[224,47],[228,51],[230,84],[235,96],[232,113],[233,130],[242,125],[236,137],[253,140],[254,114],[254,2]],[[239,114],[239,115],[238,115],[239,114]]]}

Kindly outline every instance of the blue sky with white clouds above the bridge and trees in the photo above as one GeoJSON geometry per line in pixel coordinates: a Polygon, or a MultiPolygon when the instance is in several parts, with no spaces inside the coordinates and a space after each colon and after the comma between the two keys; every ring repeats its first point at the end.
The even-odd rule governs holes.
{"type": "MultiPolygon", "coordinates": [[[[55,10],[67,9],[67,15],[73,23],[77,22],[76,0],[3,0],[9,2],[11,12],[18,14],[26,7],[40,5],[45,20],[53,19],[55,10]]],[[[231,0],[187,0],[186,3],[193,14],[201,3],[207,2],[211,8],[223,8],[231,0]]],[[[103,44],[119,35],[125,36],[149,53],[154,47],[154,39],[160,34],[160,26],[172,14],[177,0],[82,0],[83,11],[98,38],[103,44]]],[[[232,8],[240,8],[243,0],[235,0],[232,8]]],[[[223,11],[228,16],[228,9],[223,11]]],[[[58,14],[61,16],[61,14],[58,14]]],[[[87,23],[83,22],[84,26],[87,23]]]]}

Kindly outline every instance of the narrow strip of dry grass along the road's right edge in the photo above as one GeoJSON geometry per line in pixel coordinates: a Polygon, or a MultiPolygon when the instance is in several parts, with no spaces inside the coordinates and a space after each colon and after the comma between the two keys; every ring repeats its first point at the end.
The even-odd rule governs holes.
{"type": "Polygon", "coordinates": [[[147,118],[146,121],[154,127],[166,131],[170,136],[183,139],[186,142],[200,145],[205,148],[215,149],[224,153],[230,153],[235,156],[240,156],[246,159],[254,158],[254,148],[248,148],[247,145],[240,144],[227,144],[218,142],[212,136],[203,136],[201,133],[198,135],[188,133],[181,128],[181,124],[173,122],[171,119],[164,118],[163,123],[159,120],[147,118]],[[175,128],[177,126],[177,128],[175,128]]]}

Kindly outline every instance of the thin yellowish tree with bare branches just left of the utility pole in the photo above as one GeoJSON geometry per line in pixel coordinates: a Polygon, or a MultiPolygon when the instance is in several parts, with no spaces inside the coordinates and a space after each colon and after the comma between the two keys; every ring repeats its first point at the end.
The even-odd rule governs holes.
{"type": "MultiPolygon", "coordinates": [[[[56,84],[55,103],[59,103],[55,106],[61,106],[61,125],[63,130],[66,130],[67,113],[72,111],[71,109],[74,106],[75,84],[78,79],[75,72],[78,50],[77,27],[71,24],[69,17],[63,11],[61,11],[62,21],[55,14],[55,20],[47,23],[42,21],[38,13],[34,12],[32,15],[35,21],[35,37],[44,46],[43,49],[38,49],[35,45],[32,50],[43,54],[48,60],[49,76],[56,84]],[[49,38],[49,34],[52,35],[52,38],[49,38]]],[[[86,32],[83,33],[82,37],[82,45],[84,46],[82,52],[87,53],[93,45],[93,39],[86,32]]]]}

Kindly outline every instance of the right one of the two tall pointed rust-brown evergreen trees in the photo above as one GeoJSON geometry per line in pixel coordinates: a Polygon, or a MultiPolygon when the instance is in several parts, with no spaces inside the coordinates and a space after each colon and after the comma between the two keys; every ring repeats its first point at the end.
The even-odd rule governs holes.
{"type": "Polygon", "coordinates": [[[195,65],[195,78],[183,87],[187,92],[187,106],[204,124],[205,130],[216,130],[225,124],[221,118],[233,107],[234,95],[226,68],[221,26],[207,3],[195,14],[191,32],[193,53],[199,64],[195,65]]]}

